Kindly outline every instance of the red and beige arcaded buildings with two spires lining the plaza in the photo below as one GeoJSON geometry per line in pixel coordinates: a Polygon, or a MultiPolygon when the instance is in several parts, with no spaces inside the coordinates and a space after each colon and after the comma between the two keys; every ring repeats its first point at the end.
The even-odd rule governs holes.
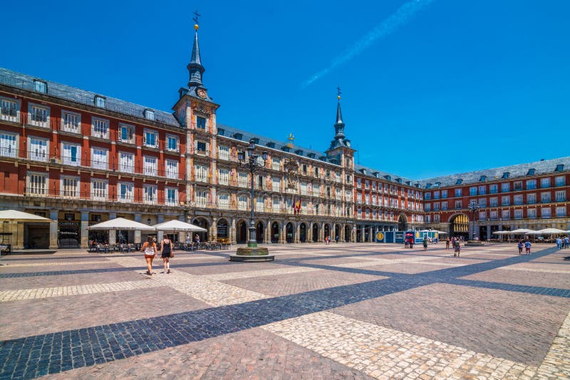
{"type": "Polygon", "coordinates": [[[245,243],[252,204],[257,240],[267,244],[373,241],[378,231],[426,228],[482,239],[570,228],[570,157],[406,179],[354,162],[340,97],[323,152],[297,146],[292,134],[283,142],[219,124],[202,82],[197,26],[187,69],[173,112],[163,112],[0,68],[0,208],[52,220],[2,223],[14,248],[145,238],[88,230],[117,217],[180,219],[206,228],[202,241],[245,243]],[[261,165],[253,179],[238,160],[252,142],[261,165]]]}

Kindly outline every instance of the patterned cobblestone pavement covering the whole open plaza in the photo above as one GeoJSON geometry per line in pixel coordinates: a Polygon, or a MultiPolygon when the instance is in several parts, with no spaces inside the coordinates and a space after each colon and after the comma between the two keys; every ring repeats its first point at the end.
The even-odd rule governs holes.
{"type": "Polygon", "coordinates": [[[570,379],[570,250],[270,249],[4,256],[0,379],[570,379]]]}

